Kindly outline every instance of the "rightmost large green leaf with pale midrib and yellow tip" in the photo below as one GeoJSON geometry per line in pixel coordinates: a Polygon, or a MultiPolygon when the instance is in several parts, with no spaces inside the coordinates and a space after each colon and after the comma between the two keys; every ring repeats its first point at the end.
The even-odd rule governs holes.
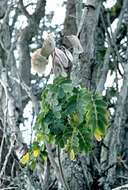
{"type": "Polygon", "coordinates": [[[91,95],[86,110],[87,125],[92,128],[97,140],[102,139],[108,125],[107,104],[98,94],[91,95]]]}

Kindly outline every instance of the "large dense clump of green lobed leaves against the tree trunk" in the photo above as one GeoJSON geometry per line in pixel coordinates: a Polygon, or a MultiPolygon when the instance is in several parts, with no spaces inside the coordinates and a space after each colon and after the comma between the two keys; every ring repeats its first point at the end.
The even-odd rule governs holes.
{"type": "Polygon", "coordinates": [[[39,144],[59,145],[74,159],[77,153],[91,150],[94,136],[98,141],[104,137],[107,125],[102,96],[59,77],[43,90],[34,130],[39,144]]]}

